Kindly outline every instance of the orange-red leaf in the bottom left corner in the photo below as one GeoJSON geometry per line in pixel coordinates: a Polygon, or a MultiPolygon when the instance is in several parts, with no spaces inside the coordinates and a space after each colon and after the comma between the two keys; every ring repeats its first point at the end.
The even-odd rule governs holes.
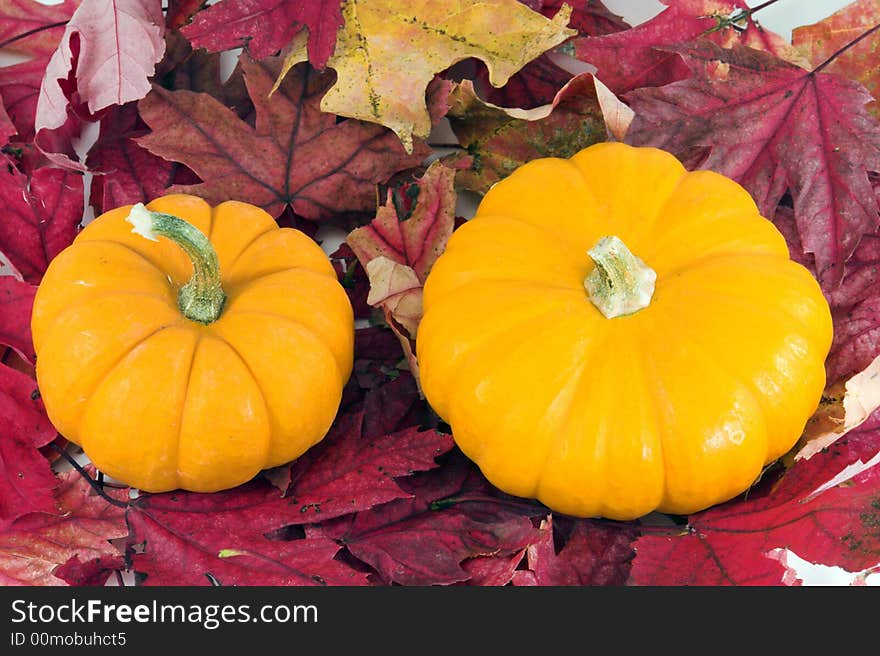
{"type": "MultiPolygon", "coordinates": [[[[128,535],[123,509],[95,494],[76,471],[58,480],[53,512],[31,512],[0,531],[0,585],[66,585],[55,572],[72,559],[123,567],[111,544],[128,535]]],[[[122,492],[113,494],[119,501],[122,492]]]]}

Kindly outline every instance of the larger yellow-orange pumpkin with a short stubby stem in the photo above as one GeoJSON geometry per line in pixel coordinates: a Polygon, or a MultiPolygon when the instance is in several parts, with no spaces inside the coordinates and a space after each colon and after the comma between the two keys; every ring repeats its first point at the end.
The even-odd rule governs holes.
{"type": "Polygon", "coordinates": [[[815,411],[831,336],[744,189],[602,143],[486,194],[428,275],[416,352],[497,487],[626,520],[752,485],[815,411]]]}

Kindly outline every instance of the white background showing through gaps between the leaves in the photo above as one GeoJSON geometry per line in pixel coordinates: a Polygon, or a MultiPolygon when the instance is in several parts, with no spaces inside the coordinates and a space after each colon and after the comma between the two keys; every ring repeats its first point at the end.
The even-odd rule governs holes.
{"type": "MultiPolygon", "coordinates": [[[[60,0],[40,0],[44,4],[56,4],[60,0]]],[[[625,18],[630,24],[637,24],[655,16],[663,10],[664,5],[657,0],[604,0],[605,5],[614,13],[625,18]]],[[[748,5],[755,7],[763,0],[749,0],[748,5]]],[[[765,28],[777,32],[785,39],[791,38],[792,29],[822,20],[826,16],[849,4],[849,0],[779,0],[776,4],[762,9],[755,14],[755,19],[765,28]]],[[[0,51],[0,66],[21,61],[15,55],[0,51]]],[[[80,144],[79,150],[85,151],[95,137],[94,129],[88,131],[80,144]]],[[[460,210],[469,216],[473,206],[465,202],[460,210]]],[[[92,216],[88,203],[85,208],[87,219],[92,216]]],[[[325,249],[332,252],[343,235],[326,232],[325,249]]],[[[5,267],[4,267],[5,268],[5,267]]],[[[845,572],[837,567],[815,565],[801,559],[797,554],[786,550],[778,550],[774,557],[787,563],[806,585],[848,585],[858,573],[845,572]]],[[[880,574],[873,574],[864,579],[868,585],[880,585],[880,574]]]]}

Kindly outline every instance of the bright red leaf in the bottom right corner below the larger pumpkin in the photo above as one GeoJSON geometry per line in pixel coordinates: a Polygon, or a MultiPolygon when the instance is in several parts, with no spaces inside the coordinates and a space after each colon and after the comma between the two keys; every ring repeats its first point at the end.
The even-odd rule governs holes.
{"type": "Polygon", "coordinates": [[[826,451],[798,460],[781,478],[692,515],[673,534],[635,542],[635,585],[780,585],[791,581],[780,552],[859,572],[880,551],[880,431],[877,421],[826,451]],[[875,464],[864,469],[865,465],[875,464]],[[855,466],[855,470],[848,467],[855,466]],[[848,475],[847,471],[858,471],[848,475]],[[842,475],[843,474],[843,475],[842,475]],[[841,476],[842,475],[842,476],[841,476]]]}

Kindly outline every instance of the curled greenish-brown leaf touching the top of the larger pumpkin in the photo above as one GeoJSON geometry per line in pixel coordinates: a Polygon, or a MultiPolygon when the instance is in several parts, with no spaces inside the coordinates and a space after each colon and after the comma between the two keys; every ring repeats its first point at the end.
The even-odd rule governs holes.
{"type": "Polygon", "coordinates": [[[460,170],[459,187],[486,193],[499,180],[539,157],[571,157],[608,138],[590,73],[573,77],[553,102],[530,110],[496,107],[477,97],[470,80],[450,93],[447,118],[463,151],[446,158],[460,170]],[[469,167],[463,167],[463,162],[469,167]]]}

